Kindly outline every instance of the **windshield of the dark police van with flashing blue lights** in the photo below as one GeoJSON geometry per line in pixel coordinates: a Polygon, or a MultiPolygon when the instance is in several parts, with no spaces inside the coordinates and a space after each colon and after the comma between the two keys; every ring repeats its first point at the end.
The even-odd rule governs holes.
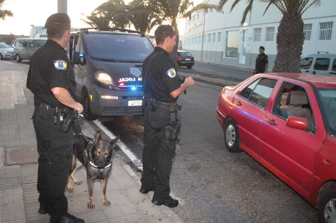
{"type": "Polygon", "coordinates": [[[124,34],[87,34],[85,44],[91,57],[118,62],[142,63],[154,48],[147,37],[124,34]]]}

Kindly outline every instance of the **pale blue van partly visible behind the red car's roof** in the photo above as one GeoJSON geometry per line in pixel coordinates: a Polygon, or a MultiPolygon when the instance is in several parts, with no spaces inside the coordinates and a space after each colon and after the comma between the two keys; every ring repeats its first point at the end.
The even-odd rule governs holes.
{"type": "Polygon", "coordinates": [[[336,54],[318,52],[303,57],[301,73],[336,76],[336,54]]]}

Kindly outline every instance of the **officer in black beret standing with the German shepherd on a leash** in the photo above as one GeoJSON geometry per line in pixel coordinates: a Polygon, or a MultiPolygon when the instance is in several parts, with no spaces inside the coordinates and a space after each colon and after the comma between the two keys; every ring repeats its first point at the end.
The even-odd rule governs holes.
{"type": "Polygon", "coordinates": [[[68,213],[64,195],[73,151],[73,129],[60,131],[59,112],[68,106],[78,112],[76,82],[65,48],[70,40],[70,18],[65,13],[51,15],[46,23],[48,40],[30,60],[27,88],[34,94],[33,124],[36,131],[38,159],[37,190],[40,214],[48,213],[50,222],[82,223],[68,213]]]}

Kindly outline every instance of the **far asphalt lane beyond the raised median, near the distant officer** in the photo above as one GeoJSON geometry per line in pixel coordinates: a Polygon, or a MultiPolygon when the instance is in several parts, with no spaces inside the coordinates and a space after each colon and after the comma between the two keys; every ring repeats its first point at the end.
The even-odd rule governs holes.
{"type": "Polygon", "coordinates": [[[188,69],[187,67],[179,67],[178,71],[184,73],[198,74],[211,78],[218,78],[218,79],[225,78],[227,80],[233,80],[233,81],[239,80],[239,82],[250,77],[252,73],[252,70],[226,67],[201,62],[195,62],[195,65],[191,69],[188,69]]]}

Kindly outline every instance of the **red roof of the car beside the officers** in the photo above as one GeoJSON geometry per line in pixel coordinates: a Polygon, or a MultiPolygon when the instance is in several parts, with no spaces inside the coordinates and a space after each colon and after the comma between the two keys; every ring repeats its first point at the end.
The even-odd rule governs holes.
{"type": "Polygon", "coordinates": [[[269,75],[283,76],[299,79],[312,83],[317,88],[336,88],[336,76],[322,76],[304,73],[266,73],[269,75]]]}

